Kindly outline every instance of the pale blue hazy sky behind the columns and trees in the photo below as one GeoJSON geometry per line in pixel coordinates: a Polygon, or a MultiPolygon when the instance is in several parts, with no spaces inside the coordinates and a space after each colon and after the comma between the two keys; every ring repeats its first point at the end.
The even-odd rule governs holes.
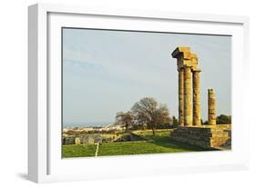
{"type": "Polygon", "coordinates": [[[209,88],[231,114],[231,36],[63,28],[63,123],[111,123],[143,97],[178,117],[177,46],[198,55],[202,119],[209,88]]]}

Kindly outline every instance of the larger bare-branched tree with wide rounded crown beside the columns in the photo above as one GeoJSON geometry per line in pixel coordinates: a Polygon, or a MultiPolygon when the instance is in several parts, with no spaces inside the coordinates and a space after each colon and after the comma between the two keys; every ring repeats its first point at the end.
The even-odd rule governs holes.
{"type": "Polygon", "coordinates": [[[145,97],[135,103],[131,109],[137,125],[146,124],[156,134],[156,126],[161,123],[171,123],[169,110],[166,104],[158,104],[154,98],[145,97]]]}

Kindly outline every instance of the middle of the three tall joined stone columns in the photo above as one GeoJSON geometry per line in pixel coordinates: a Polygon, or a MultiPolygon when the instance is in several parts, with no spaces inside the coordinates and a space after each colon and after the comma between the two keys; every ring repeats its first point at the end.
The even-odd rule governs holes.
{"type": "Polygon", "coordinates": [[[184,125],[192,125],[191,68],[184,66],[184,125]]]}

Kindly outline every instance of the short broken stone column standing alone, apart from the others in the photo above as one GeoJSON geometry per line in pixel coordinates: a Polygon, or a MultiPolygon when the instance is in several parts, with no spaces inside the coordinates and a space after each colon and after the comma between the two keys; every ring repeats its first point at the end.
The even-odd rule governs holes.
{"type": "Polygon", "coordinates": [[[213,89],[208,89],[208,124],[216,124],[216,97],[213,89]]]}

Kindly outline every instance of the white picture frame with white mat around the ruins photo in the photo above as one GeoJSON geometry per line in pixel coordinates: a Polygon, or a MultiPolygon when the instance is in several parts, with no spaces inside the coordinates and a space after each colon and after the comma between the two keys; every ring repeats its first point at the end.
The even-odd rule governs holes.
{"type": "Polygon", "coordinates": [[[124,176],[218,172],[249,167],[249,122],[244,101],[248,75],[249,19],[235,15],[181,14],[36,4],[28,7],[28,178],[33,182],[61,182],[124,176]],[[92,20],[89,20],[92,18],[92,20]],[[87,22],[85,22],[85,20],[87,22]],[[109,22],[106,22],[108,19],[109,22]],[[61,125],[57,88],[60,87],[61,26],[169,31],[197,34],[231,34],[232,42],[232,151],[217,153],[175,153],[61,159],[61,125]],[[145,22],[144,27],[139,22],[145,22]],[[169,28],[169,23],[172,26],[169,28]],[[199,32],[200,31],[200,32],[199,32]],[[56,51],[55,51],[56,49],[56,51]],[[56,52],[56,53],[55,53],[56,52]],[[242,88],[242,89],[241,89],[242,88]],[[59,116],[58,116],[59,117],[59,116]],[[57,117],[56,117],[57,118],[57,117]],[[59,144],[60,143],[60,144],[59,144]],[[59,146],[58,146],[59,145],[59,146]],[[153,162],[152,162],[153,161],[153,162]],[[149,163],[149,164],[148,164],[149,163]],[[122,165],[123,168],[120,166],[122,165]],[[118,171],[118,172],[115,172],[118,171]]]}

